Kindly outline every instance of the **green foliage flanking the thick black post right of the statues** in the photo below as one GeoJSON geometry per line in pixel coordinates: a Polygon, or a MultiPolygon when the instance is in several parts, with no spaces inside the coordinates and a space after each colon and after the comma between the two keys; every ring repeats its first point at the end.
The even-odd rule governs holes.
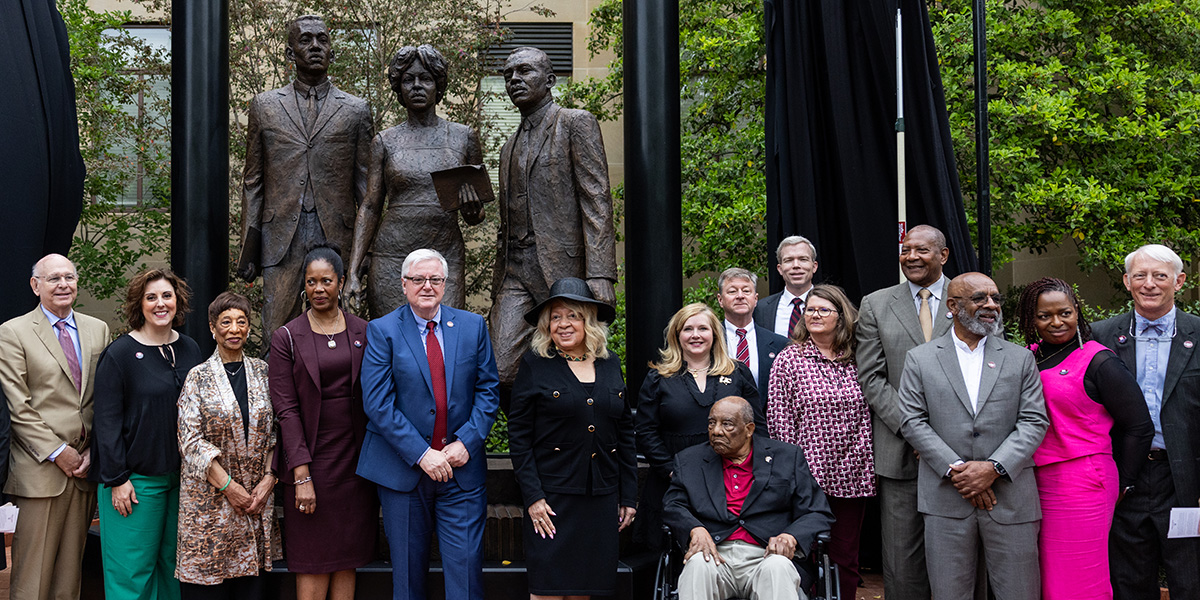
{"type": "MultiPolygon", "coordinates": [[[[684,277],[744,266],[766,275],[767,212],[764,61],[761,0],[680,0],[684,277]]],[[[563,103],[601,119],[620,113],[620,0],[592,12],[593,55],[617,58],[604,79],[572,82],[563,103]]],[[[715,281],[703,277],[688,301],[715,304],[715,281]]]]}

